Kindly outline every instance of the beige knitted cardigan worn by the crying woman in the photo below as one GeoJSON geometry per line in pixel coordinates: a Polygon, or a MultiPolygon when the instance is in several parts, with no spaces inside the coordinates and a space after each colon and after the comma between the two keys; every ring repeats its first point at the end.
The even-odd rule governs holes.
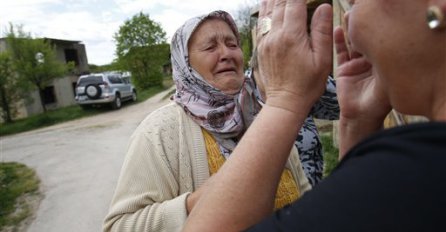
{"type": "MultiPolygon", "coordinates": [[[[310,189],[297,151],[287,163],[299,189],[310,189]]],[[[104,231],[181,231],[186,197],[209,178],[201,129],[176,103],[138,126],[104,221],[104,231]]]]}

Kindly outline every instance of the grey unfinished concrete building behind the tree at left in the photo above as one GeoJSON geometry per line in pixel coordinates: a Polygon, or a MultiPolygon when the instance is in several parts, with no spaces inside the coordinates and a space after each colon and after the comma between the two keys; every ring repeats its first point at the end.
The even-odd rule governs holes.
{"type": "MultiPolygon", "coordinates": [[[[43,90],[43,101],[47,109],[74,105],[75,87],[80,75],[89,73],[85,45],[80,41],[44,38],[56,49],[56,56],[63,63],[74,62],[74,71],[62,78],[56,78],[43,90]]],[[[6,39],[0,38],[0,52],[6,49],[6,39]]],[[[33,114],[42,113],[41,100],[38,90],[30,93],[32,101],[24,99],[16,103],[18,115],[24,118],[33,114]]]]}

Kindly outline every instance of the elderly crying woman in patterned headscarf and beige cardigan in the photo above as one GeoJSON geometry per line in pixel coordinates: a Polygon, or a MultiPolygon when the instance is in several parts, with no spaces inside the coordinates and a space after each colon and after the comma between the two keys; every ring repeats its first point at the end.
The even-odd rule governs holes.
{"type": "MultiPolygon", "coordinates": [[[[173,102],[147,116],[132,135],[104,231],[180,231],[260,110],[228,13],[186,21],[173,36],[171,54],[173,102]]],[[[293,148],[275,207],[309,188],[293,148]]]]}

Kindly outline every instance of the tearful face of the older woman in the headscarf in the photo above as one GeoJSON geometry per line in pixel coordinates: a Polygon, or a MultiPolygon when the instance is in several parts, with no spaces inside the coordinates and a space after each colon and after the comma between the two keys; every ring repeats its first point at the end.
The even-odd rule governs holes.
{"type": "Polygon", "coordinates": [[[243,53],[229,25],[220,19],[204,21],[192,34],[189,62],[210,85],[225,94],[239,92],[243,81],[243,53]]]}

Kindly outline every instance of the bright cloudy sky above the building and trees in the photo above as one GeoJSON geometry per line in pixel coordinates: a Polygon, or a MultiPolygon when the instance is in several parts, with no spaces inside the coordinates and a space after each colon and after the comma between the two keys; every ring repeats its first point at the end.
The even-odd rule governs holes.
{"type": "Polygon", "coordinates": [[[22,25],[35,38],[81,41],[89,64],[115,58],[113,35],[133,15],[143,12],[158,22],[170,42],[187,19],[212,10],[237,10],[258,0],[0,0],[0,37],[9,23],[22,25]]]}

